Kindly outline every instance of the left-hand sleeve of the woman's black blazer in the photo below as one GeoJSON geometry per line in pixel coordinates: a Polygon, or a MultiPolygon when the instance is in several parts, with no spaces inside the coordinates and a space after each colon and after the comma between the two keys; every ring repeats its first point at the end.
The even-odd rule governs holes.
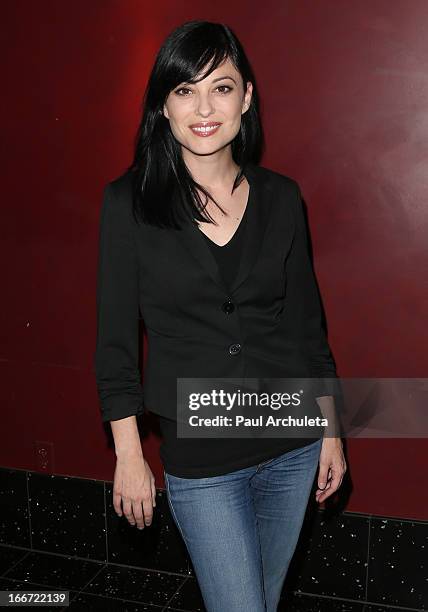
{"type": "Polygon", "coordinates": [[[138,265],[129,206],[104,188],[97,272],[95,377],[102,421],[143,412],[138,265]]]}

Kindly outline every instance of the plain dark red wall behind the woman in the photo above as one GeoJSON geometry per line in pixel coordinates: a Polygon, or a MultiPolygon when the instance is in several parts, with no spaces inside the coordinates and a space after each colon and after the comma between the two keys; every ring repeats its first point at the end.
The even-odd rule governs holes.
{"type": "MultiPolygon", "coordinates": [[[[14,0],[0,43],[0,465],[36,469],[44,441],[55,473],[113,478],[92,371],[101,192],[131,159],[159,45],[195,18],[232,26],[253,63],[262,163],[302,187],[339,374],[426,376],[426,2],[14,0]]],[[[158,447],[144,439],[163,486],[158,447]]],[[[426,452],[425,439],[348,440],[347,509],[427,519],[426,452]]]]}

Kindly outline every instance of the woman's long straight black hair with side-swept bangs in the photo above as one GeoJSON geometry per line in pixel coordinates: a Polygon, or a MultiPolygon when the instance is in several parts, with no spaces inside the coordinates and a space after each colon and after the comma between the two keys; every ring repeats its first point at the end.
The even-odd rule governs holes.
{"type": "Polygon", "coordinates": [[[132,173],[133,213],[137,222],[179,229],[183,221],[210,221],[212,218],[204,211],[208,200],[203,204],[197,189],[223,210],[193,180],[184,163],[181,145],[163,114],[163,106],[174,87],[205,78],[226,59],[241,74],[244,91],[247,81],[253,84],[251,104],[241,115],[241,128],[231,143],[232,157],[240,168],[232,192],[240,184],[247,163],[259,162],[263,146],[259,97],[253,71],[239,40],[224,24],[188,21],[163,43],[144,93],[134,159],[127,168],[132,173]],[[196,80],[195,75],[207,64],[208,70],[196,80]]]}

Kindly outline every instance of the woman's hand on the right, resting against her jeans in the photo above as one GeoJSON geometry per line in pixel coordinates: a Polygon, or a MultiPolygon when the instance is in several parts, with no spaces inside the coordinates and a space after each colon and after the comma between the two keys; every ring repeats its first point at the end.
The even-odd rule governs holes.
{"type": "Polygon", "coordinates": [[[318,489],[315,498],[318,503],[330,497],[342,484],[346,472],[346,461],[343,455],[340,438],[323,438],[320,453],[318,489]]]}

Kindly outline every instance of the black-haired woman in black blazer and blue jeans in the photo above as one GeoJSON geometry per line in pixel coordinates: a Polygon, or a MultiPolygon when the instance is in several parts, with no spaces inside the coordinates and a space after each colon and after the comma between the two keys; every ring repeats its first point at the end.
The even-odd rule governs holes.
{"type": "MultiPolygon", "coordinates": [[[[277,609],[318,462],[318,502],[346,469],[338,437],[177,435],[179,378],[336,376],[299,188],[257,165],[258,106],[230,28],[177,28],[150,75],[133,163],[107,185],[101,215],[95,368],[114,508],[139,529],[152,522],[144,406],[160,418],[168,503],[208,612],[277,609]]],[[[323,389],[317,409],[332,414],[323,389]]]]}

